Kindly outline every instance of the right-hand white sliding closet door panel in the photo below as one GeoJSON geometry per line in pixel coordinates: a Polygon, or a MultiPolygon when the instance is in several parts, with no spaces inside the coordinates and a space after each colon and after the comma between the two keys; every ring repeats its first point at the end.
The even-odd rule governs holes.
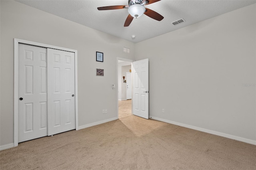
{"type": "Polygon", "coordinates": [[[48,135],[73,130],[75,122],[74,53],[47,49],[48,135]]]}

